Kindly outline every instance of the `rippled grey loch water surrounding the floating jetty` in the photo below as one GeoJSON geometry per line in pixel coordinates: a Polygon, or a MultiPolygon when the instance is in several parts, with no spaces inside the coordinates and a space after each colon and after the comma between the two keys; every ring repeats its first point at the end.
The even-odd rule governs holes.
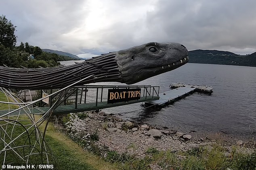
{"type": "MultiPolygon", "coordinates": [[[[121,113],[123,119],[185,132],[256,136],[255,67],[187,63],[135,85],[160,86],[160,92],[165,92],[175,82],[211,85],[214,90],[212,94],[194,92],[162,108],[143,109],[141,103],[136,103],[103,111],[121,113]],[[128,111],[134,112],[124,113],[128,111]]],[[[121,85],[113,82],[98,84],[121,85]]]]}

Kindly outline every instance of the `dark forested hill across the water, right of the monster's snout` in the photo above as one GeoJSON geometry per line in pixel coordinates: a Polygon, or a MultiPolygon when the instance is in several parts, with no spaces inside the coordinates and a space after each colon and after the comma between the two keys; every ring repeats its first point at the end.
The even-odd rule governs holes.
{"type": "Polygon", "coordinates": [[[189,63],[225,64],[256,67],[256,52],[238,55],[229,51],[193,50],[189,51],[189,63]]]}

